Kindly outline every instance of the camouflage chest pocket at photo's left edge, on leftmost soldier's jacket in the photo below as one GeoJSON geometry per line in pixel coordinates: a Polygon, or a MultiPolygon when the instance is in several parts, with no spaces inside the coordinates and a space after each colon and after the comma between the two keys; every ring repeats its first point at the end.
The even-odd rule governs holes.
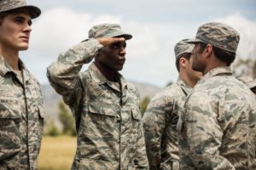
{"type": "Polygon", "coordinates": [[[20,120],[18,100],[0,98],[0,160],[15,156],[21,150],[20,120]]]}

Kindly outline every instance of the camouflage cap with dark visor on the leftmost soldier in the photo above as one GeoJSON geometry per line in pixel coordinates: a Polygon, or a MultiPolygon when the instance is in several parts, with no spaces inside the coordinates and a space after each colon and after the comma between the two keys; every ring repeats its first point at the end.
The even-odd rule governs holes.
{"type": "Polygon", "coordinates": [[[26,0],[0,0],[0,13],[17,8],[26,8],[32,19],[37,18],[41,14],[40,8],[26,5],[26,0]]]}

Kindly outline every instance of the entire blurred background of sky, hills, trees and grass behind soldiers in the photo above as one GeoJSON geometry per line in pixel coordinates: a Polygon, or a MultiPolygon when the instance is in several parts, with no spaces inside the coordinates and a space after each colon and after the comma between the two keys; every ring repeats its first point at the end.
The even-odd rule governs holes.
{"type": "MultiPolygon", "coordinates": [[[[133,38],[127,42],[121,74],[142,96],[142,112],[150,98],[176,82],[174,45],[195,37],[201,24],[224,22],[241,35],[235,76],[256,78],[256,1],[254,0],[26,0],[42,9],[33,20],[30,47],[20,54],[41,82],[46,109],[38,169],[70,169],[76,148],[73,117],[61,96],[49,86],[46,67],[61,52],[88,37],[96,24],[118,23],[133,38]]],[[[84,65],[83,71],[87,69],[84,65]]]]}

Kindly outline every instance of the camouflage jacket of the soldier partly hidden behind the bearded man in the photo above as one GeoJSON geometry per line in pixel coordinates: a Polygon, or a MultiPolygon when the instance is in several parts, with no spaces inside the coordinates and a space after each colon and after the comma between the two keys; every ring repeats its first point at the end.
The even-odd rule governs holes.
{"type": "Polygon", "coordinates": [[[180,78],[151,99],[143,116],[149,167],[179,169],[177,120],[191,88],[180,78]]]}

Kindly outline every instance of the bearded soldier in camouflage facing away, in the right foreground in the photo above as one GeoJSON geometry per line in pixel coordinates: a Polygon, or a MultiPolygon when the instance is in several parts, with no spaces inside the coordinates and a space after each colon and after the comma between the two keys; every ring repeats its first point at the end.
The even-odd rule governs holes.
{"type": "Polygon", "coordinates": [[[245,84],[232,76],[239,33],[211,22],[192,42],[192,68],[203,77],[185,102],[177,129],[181,169],[253,169],[255,103],[245,84]]]}

